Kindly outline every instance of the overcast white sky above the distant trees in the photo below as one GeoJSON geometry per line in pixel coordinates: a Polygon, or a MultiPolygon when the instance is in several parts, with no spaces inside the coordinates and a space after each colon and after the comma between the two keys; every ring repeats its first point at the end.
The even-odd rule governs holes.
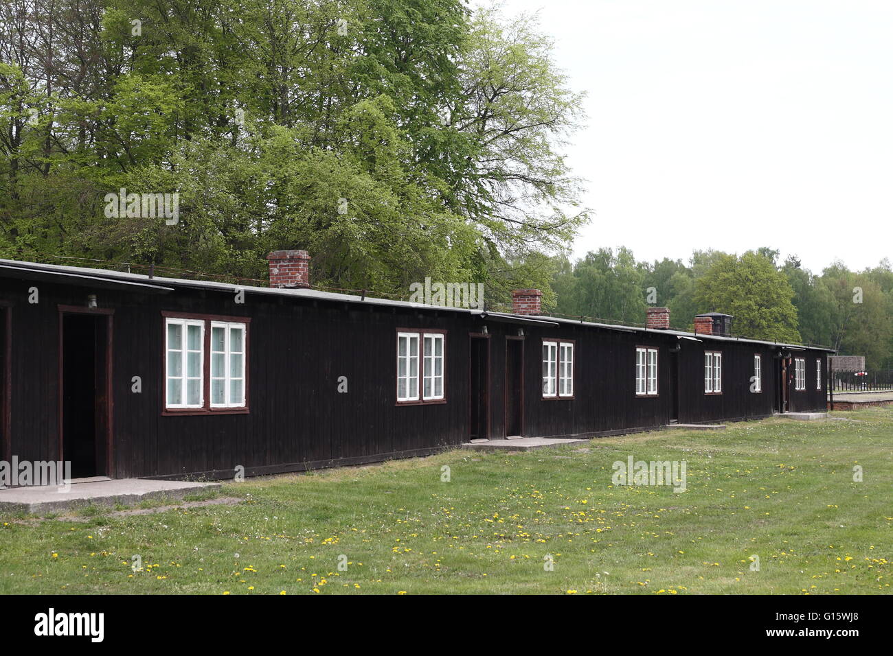
{"type": "Polygon", "coordinates": [[[577,256],[888,257],[893,2],[505,0],[539,11],[588,129],[568,154],[595,220],[577,256]]]}

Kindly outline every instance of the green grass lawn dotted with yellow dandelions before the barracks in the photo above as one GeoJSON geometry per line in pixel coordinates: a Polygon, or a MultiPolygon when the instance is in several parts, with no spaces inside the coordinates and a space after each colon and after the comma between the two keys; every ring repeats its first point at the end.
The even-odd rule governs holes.
{"type": "Polygon", "coordinates": [[[0,593],[889,594],[893,410],[837,414],[249,479],[229,505],[4,517],[0,593]],[[687,491],[613,486],[629,455],[686,461],[687,491]]]}

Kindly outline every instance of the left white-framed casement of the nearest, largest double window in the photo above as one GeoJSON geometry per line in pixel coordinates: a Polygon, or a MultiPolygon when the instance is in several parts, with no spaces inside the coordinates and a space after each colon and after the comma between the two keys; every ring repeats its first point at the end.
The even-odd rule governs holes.
{"type": "Polygon", "coordinates": [[[204,408],[204,320],[165,319],[164,351],[164,405],[204,408]]]}

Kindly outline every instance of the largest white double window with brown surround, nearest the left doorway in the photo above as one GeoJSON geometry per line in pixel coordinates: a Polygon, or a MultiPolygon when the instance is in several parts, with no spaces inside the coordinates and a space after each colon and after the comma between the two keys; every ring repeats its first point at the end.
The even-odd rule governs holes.
{"type": "Polygon", "coordinates": [[[164,318],[164,409],[247,410],[248,320],[164,318]]]}

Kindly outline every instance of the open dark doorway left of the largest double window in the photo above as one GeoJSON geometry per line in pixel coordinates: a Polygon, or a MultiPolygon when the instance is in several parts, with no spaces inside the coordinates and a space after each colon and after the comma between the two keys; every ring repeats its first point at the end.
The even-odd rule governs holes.
{"type": "Polygon", "coordinates": [[[112,445],[112,316],[60,311],[60,460],[71,477],[108,476],[112,445]]]}

